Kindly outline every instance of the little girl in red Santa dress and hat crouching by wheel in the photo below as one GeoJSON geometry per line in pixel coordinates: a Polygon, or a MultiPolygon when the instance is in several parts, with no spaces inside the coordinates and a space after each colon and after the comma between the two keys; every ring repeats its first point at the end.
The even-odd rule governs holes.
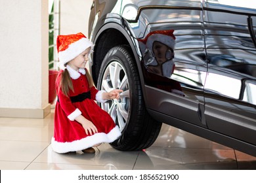
{"type": "Polygon", "coordinates": [[[95,153],[93,146],[113,142],[121,135],[111,116],[95,103],[95,100],[104,103],[108,99],[119,99],[119,92],[123,91],[98,91],[93,86],[85,69],[93,46],[82,33],[58,35],[58,66],[61,70],[56,78],[58,101],[51,141],[55,152],[82,150],[95,153]]]}

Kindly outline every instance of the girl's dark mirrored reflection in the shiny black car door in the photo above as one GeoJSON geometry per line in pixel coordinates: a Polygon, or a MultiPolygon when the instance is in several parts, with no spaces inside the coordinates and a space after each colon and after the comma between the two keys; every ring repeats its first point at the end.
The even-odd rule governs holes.
{"type": "Polygon", "coordinates": [[[145,39],[140,39],[139,43],[146,84],[184,96],[179,82],[169,80],[175,70],[173,30],[153,31],[145,39]]]}

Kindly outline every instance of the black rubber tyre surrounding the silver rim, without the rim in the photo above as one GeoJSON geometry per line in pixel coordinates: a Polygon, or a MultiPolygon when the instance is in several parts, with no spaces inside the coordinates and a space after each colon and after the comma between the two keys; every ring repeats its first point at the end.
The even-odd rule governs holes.
{"type": "Polygon", "coordinates": [[[131,53],[131,48],[125,45],[110,49],[102,61],[97,82],[97,88],[100,89],[106,68],[114,61],[123,67],[127,76],[129,84],[127,121],[121,131],[121,137],[110,143],[117,150],[125,151],[148,148],[156,140],[161,129],[161,123],[151,118],[146,110],[137,63],[131,53]]]}

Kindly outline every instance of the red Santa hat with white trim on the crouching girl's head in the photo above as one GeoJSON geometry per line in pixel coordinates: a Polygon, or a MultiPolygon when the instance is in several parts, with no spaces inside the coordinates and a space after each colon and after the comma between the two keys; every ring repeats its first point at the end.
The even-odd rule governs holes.
{"type": "Polygon", "coordinates": [[[87,48],[91,47],[90,53],[93,51],[93,42],[89,41],[83,33],[72,35],[58,35],[57,50],[58,50],[58,67],[64,70],[65,63],[74,59],[87,48]]]}

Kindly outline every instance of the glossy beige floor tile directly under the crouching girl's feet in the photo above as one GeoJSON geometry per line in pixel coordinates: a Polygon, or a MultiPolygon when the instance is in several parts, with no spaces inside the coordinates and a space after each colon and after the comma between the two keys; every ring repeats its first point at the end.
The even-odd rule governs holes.
{"type": "Polygon", "coordinates": [[[103,167],[119,167],[119,169],[133,169],[139,152],[120,152],[109,144],[101,144],[95,148],[96,154],[58,154],[49,146],[33,163],[57,163],[70,165],[89,165],[103,167]]]}

